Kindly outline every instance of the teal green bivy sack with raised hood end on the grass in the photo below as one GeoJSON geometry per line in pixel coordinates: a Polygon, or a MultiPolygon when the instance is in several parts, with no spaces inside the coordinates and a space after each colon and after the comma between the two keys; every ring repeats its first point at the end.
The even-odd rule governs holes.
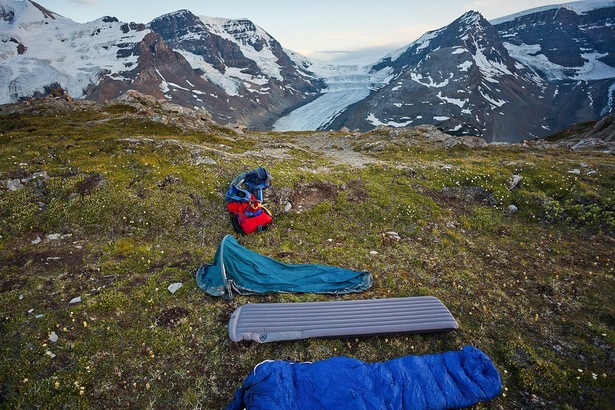
{"type": "Polygon", "coordinates": [[[369,289],[369,272],[317,264],[287,264],[251,251],[226,235],[213,264],[196,272],[198,286],[212,296],[232,299],[235,294],[329,293],[344,294],[369,289]]]}

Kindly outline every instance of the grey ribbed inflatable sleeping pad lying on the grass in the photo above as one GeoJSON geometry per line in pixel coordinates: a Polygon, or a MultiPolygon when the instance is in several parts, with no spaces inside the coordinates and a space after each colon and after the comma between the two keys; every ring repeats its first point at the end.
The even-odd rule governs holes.
{"type": "Polygon", "coordinates": [[[348,300],[337,302],[249,303],[229,321],[234,342],[259,343],[312,337],[351,337],[457,329],[438,298],[348,300]]]}

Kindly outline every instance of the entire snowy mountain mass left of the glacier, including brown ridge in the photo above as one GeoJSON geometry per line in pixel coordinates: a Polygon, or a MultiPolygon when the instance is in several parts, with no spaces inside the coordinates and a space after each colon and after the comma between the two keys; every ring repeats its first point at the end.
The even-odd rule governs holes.
{"type": "Polygon", "coordinates": [[[0,103],[58,87],[92,100],[132,89],[203,108],[223,124],[267,129],[323,86],[249,20],[187,10],[147,25],[79,24],[33,1],[0,0],[0,40],[0,103]]]}

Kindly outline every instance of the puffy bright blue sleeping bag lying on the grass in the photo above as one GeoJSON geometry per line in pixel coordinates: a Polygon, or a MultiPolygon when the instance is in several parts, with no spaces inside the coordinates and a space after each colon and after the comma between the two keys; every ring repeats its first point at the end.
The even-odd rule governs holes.
{"type": "Polygon", "coordinates": [[[267,361],[254,368],[227,410],[459,409],[500,394],[482,351],[464,349],[368,364],[347,357],[267,361]]]}

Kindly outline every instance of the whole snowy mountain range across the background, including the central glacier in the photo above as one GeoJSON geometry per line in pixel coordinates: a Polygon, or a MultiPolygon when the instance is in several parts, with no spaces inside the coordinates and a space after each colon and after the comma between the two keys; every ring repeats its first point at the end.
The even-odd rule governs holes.
{"type": "Polygon", "coordinates": [[[518,142],[615,111],[614,39],[615,1],[586,0],[492,21],[468,12],[371,66],[326,66],[247,19],[79,24],[0,0],[0,104],[136,90],[258,130],[435,124],[518,142]]]}

